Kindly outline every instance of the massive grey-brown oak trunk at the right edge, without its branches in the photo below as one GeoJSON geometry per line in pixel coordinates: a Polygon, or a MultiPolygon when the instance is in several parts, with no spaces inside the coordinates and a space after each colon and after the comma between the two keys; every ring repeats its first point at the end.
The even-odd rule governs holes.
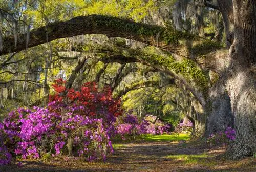
{"type": "Polygon", "coordinates": [[[234,0],[234,41],[227,71],[236,142],[229,148],[233,159],[256,153],[256,2],[234,0]]]}

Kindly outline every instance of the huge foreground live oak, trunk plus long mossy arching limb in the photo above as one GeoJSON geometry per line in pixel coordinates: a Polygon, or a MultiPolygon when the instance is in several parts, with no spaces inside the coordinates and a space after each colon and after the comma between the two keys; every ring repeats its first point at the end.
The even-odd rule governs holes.
{"type": "MultiPolygon", "coordinates": [[[[199,36],[175,29],[135,23],[110,16],[89,15],[74,17],[66,22],[49,23],[29,33],[19,34],[18,38],[16,34],[5,36],[2,38],[0,55],[81,34],[105,34],[108,37],[134,39],[168,51],[176,60],[185,61],[186,65],[191,65],[192,62],[202,69],[214,71],[221,77],[219,84],[225,85],[228,92],[237,131],[237,140],[230,146],[228,153],[234,159],[252,156],[256,153],[256,3],[253,0],[218,0],[217,2],[211,4],[210,1],[205,1],[205,4],[222,14],[227,49],[221,48],[215,42],[205,41],[199,36]],[[29,39],[27,39],[28,34],[29,39]]],[[[182,68],[173,69],[176,66],[166,58],[166,56],[164,58],[150,56],[150,58],[135,58],[135,61],[140,60],[147,65],[153,65],[180,81],[181,85],[196,97],[197,102],[191,101],[194,107],[203,109],[205,111],[203,113],[207,114],[211,109],[211,102],[215,101],[207,97],[209,95],[207,84],[199,82],[201,84],[191,86],[190,84],[194,82],[186,79],[185,71],[182,68]]],[[[202,78],[203,81],[200,73],[197,74],[199,75],[194,79],[202,78]]],[[[222,95],[225,98],[225,90],[222,91],[222,95]]],[[[218,97],[217,100],[224,99],[218,97]]],[[[225,98],[225,100],[229,99],[225,98]]],[[[200,110],[196,111],[200,112],[200,110]]]]}

